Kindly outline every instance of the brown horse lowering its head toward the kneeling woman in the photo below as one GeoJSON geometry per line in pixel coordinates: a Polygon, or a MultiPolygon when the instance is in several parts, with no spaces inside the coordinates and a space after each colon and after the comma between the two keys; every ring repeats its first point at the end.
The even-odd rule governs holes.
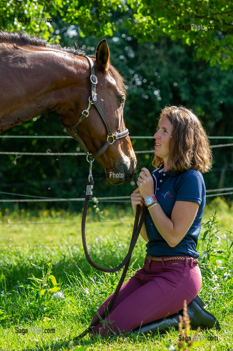
{"type": "Polygon", "coordinates": [[[92,97],[97,96],[112,133],[122,135],[114,143],[110,139],[112,145],[97,160],[105,168],[110,183],[128,183],[135,171],[136,158],[127,133],[123,133],[126,130],[123,80],[110,64],[109,56],[107,42],[102,40],[96,57],[91,57],[96,77],[91,78],[91,82],[92,62],[83,51],[48,44],[44,39],[23,32],[0,31],[0,132],[42,113],[55,111],[61,114],[62,124],[67,126],[69,134],[75,137],[69,127],[75,126],[90,106],[90,114],[74,131],[81,136],[86,149],[94,154],[109,135],[97,109],[89,105],[91,86],[96,86],[96,95],[92,97]]]}

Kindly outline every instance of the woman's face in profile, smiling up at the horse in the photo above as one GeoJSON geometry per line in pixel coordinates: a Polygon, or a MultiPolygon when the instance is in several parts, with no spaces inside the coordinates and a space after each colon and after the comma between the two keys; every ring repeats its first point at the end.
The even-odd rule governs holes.
{"type": "Polygon", "coordinates": [[[155,154],[163,159],[164,164],[167,163],[168,160],[169,141],[172,131],[173,126],[167,115],[163,116],[158,125],[158,130],[155,133],[154,138],[156,140],[155,154]]]}

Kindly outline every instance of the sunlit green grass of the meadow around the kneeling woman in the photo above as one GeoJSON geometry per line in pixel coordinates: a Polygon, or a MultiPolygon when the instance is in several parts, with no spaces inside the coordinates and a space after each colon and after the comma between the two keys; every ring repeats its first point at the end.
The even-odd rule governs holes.
{"type": "MultiPolygon", "coordinates": [[[[52,210],[29,215],[27,211],[1,211],[0,350],[84,350],[86,347],[87,350],[178,350],[175,329],[164,335],[120,335],[106,339],[87,336],[70,343],[90,324],[97,307],[113,292],[121,271],[97,272],[87,263],[80,215],[52,210]],[[15,332],[16,327],[55,329],[55,332],[23,335],[15,332]]],[[[133,226],[130,211],[89,210],[87,241],[90,256],[97,264],[113,267],[125,256],[133,226]]],[[[206,339],[217,336],[218,341],[197,343],[191,350],[232,350],[231,211],[231,206],[220,198],[205,209],[198,244],[203,275],[199,296],[218,318],[221,331],[199,332],[206,339]],[[217,219],[213,217],[215,210],[217,219]],[[204,226],[209,217],[211,220],[204,226]]],[[[127,279],[143,264],[144,243],[142,238],[136,243],[127,279]]]]}

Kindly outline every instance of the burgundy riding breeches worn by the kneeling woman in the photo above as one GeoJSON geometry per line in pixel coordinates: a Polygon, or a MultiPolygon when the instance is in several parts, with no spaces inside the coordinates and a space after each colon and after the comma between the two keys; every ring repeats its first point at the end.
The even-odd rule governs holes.
{"type": "MultiPolygon", "coordinates": [[[[140,325],[174,314],[189,304],[198,294],[202,275],[192,259],[185,261],[149,261],[122,285],[106,323],[98,323],[92,333],[104,336],[126,333],[140,325]]],[[[99,307],[98,314],[107,311],[112,295],[99,307]]],[[[97,318],[97,314],[92,322],[97,318]]]]}

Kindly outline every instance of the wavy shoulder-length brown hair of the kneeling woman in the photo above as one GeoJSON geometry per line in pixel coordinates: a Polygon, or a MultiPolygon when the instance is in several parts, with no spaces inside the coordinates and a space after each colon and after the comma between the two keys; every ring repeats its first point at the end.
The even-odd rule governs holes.
{"type": "MultiPolygon", "coordinates": [[[[201,173],[208,172],[212,167],[212,152],[199,118],[188,108],[170,106],[163,108],[158,124],[165,115],[173,126],[169,144],[169,169],[184,172],[192,168],[201,173]]],[[[158,168],[162,164],[163,159],[155,155],[153,166],[158,168]]]]}

